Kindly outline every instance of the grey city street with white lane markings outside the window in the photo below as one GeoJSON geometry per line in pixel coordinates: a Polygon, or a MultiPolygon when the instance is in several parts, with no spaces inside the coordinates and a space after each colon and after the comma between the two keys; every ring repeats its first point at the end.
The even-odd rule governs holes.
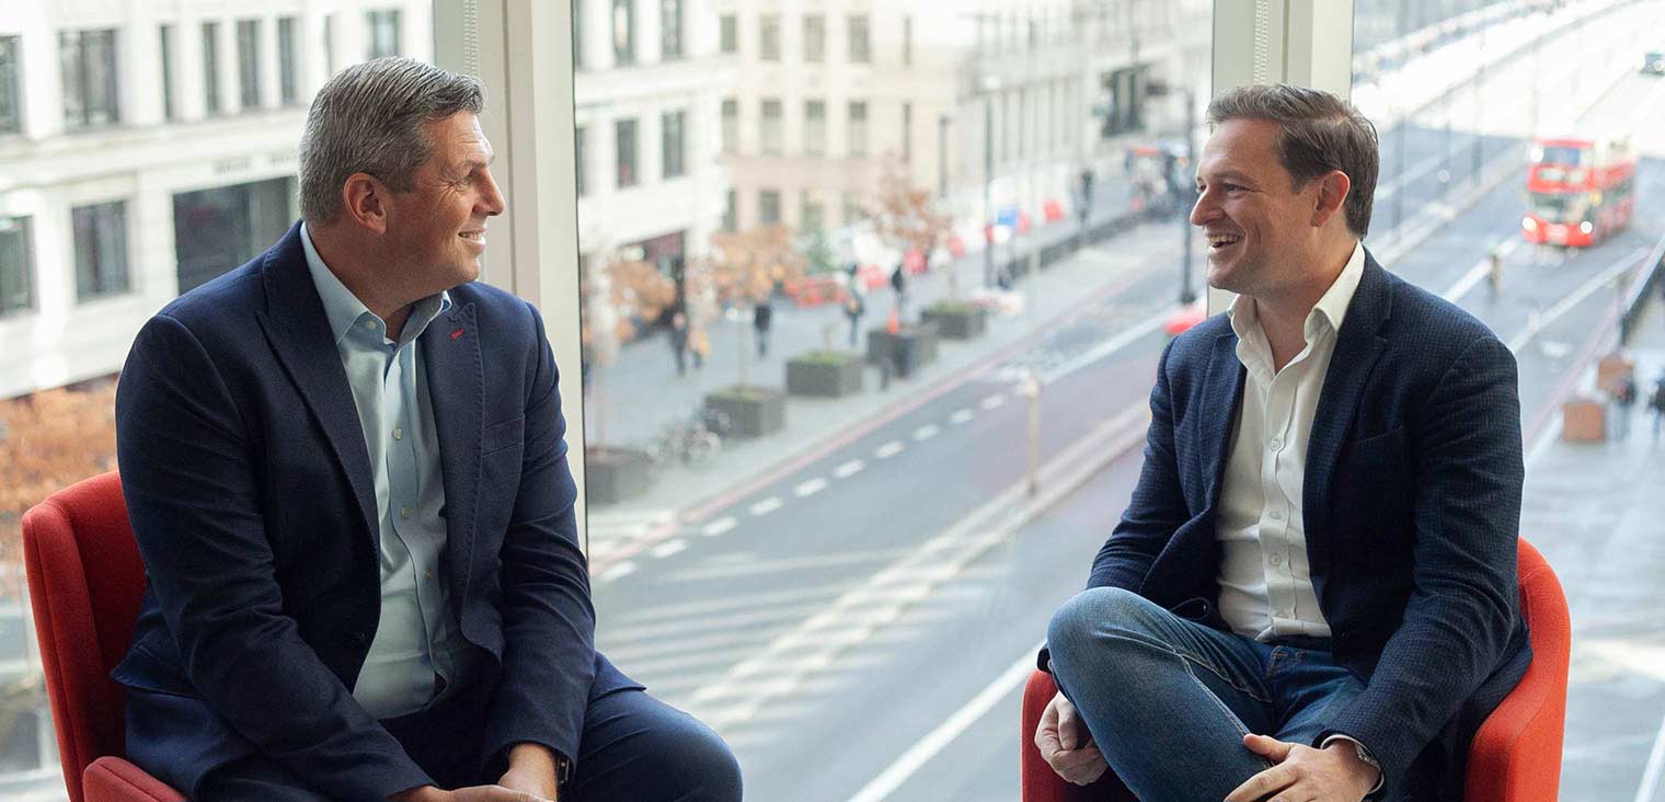
{"type": "MultiPolygon", "coordinates": [[[[1555,439],[1560,403],[1610,341],[1617,288],[1665,235],[1665,80],[1633,75],[1628,47],[1588,57],[1593,42],[1627,43],[1648,25],[1657,30],[1655,7],[1615,10],[1487,72],[1482,88],[1455,93],[1450,133],[1429,111],[1384,133],[1367,245],[1377,248],[1392,215],[1429,223],[1415,243],[1387,236],[1397,253],[1389,268],[1462,304],[1515,351],[1528,484],[1538,481],[1532,471],[1565,463],[1557,449],[1567,446],[1555,439]],[[1538,95],[1527,88],[1548,72],[1557,83],[1538,95]],[[1635,135],[1643,161],[1630,230],[1583,251],[1520,241],[1522,153],[1535,118],[1557,130],[1635,135]],[[1479,133],[1474,120],[1484,120],[1479,133]],[[1495,160],[1479,170],[1477,136],[1495,160]],[[1495,298],[1482,281],[1494,245],[1505,255],[1495,298]]],[[[1137,474],[1177,251],[1179,233],[1166,225],[1087,248],[1052,268],[1092,276],[1072,304],[1057,304],[1069,311],[1006,321],[1016,331],[1011,348],[861,426],[818,433],[819,446],[803,459],[714,494],[693,516],[656,519],[651,539],[624,551],[598,542],[598,646],[729,740],[748,799],[1017,799],[1021,682],[1051,611],[1081,587],[1137,474]],[[1034,418],[1022,391],[1029,371],[1044,388],[1034,418]],[[1031,421],[1039,433],[1034,498],[1031,421]]],[[[1528,499],[1523,534],[1552,562],[1623,561],[1568,542],[1570,529],[1555,524],[1565,514],[1528,499]]],[[[1603,564],[1578,572],[1557,562],[1575,616],[1585,582],[1657,567],[1603,564]]],[[[1608,611],[1628,602],[1642,599],[1603,597],[1608,611]]],[[[1575,666],[1580,654],[1575,647],[1575,666]]],[[[1562,799],[1637,794],[1665,694],[1660,677],[1632,674],[1633,692],[1623,697],[1580,686],[1612,671],[1575,669],[1562,799]],[[1602,732],[1607,709],[1598,705],[1617,704],[1628,705],[1640,732],[1615,747],[1627,759],[1573,749],[1602,732]]]]}

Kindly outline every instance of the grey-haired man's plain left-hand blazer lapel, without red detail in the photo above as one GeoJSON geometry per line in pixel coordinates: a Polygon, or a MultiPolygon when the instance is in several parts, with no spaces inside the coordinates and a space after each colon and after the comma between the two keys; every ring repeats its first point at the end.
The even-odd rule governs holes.
{"type": "Polygon", "coordinates": [[[358,499],[363,536],[370,539],[371,554],[376,554],[380,527],[370,449],[365,446],[365,429],[358,423],[353,388],[346,381],[341,354],[330,333],[330,319],[306,268],[300,223],[266,251],[261,276],[266,286],[266,311],[260,314],[260,326],[278,361],[290,373],[290,379],[300,388],[306,408],[323,428],[330,451],[335,453],[358,499]]]}

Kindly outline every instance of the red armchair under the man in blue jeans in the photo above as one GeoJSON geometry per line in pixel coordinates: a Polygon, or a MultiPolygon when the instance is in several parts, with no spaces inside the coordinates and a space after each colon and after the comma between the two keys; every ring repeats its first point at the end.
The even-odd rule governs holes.
{"type": "MultiPolygon", "coordinates": [[[[1532,631],[1532,666],[1474,735],[1464,789],[1470,802],[1555,802],[1560,790],[1572,617],[1555,571],[1527,541],[1520,541],[1518,566],[1520,611],[1532,631]]],[[[1057,686],[1044,671],[1034,672],[1024,689],[1024,802],[1132,802],[1134,795],[1114,772],[1106,772],[1094,785],[1071,785],[1041,757],[1034,732],[1056,694],[1057,686]]]]}

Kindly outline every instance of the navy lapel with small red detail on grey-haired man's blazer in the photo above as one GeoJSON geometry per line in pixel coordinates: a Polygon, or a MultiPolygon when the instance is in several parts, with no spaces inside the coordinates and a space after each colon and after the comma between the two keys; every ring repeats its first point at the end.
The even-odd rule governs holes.
{"type": "MultiPolygon", "coordinates": [[[[456,300],[456,291],[451,293],[456,300]]],[[[480,438],[485,433],[485,373],[475,304],[456,303],[421,338],[428,371],[428,401],[440,434],[440,474],[445,481],[445,556],[451,566],[453,597],[461,604],[473,572],[475,517],[480,496],[480,438]]]]}

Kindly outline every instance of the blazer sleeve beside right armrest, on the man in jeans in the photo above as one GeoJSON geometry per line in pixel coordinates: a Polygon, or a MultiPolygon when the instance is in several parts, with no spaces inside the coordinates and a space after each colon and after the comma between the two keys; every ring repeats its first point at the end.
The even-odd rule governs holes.
{"type": "Polygon", "coordinates": [[[1525,476],[1513,354],[1474,341],[1415,421],[1415,587],[1369,686],[1319,735],[1357,739],[1389,779],[1457,715],[1513,631],[1525,476]]]}

